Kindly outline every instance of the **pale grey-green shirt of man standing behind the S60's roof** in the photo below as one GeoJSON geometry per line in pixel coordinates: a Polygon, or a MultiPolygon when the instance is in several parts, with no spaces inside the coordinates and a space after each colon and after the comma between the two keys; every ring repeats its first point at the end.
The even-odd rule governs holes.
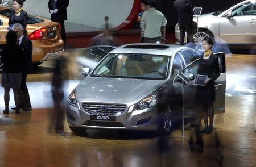
{"type": "Polygon", "coordinates": [[[167,20],[162,12],[155,8],[146,10],[141,18],[141,28],[144,30],[144,37],[155,38],[162,36],[161,27],[166,26],[167,20]]]}

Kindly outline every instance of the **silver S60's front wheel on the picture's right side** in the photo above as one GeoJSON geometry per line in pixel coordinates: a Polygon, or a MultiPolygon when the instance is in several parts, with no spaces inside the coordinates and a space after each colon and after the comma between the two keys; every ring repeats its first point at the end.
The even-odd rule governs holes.
{"type": "Polygon", "coordinates": [[[161,112],[159,119],[158,134],[160,136],[169,136],[172,132],[172,111],[169,105],[166,105],[161,112]]]}

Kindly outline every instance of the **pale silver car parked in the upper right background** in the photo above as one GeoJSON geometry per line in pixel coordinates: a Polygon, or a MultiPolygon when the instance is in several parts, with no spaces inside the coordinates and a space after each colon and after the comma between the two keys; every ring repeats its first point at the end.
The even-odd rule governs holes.
{"type": "MultiPolygon", "coordinates": [[[[196,17],[193,18],[197,22],[196,17]]],[[[224,41],[230,45],[255,45],[256,38],[256,1],[247,0],[225,11],[203,14],[198,18],[199,32],[193,35],[195,41],[206,37],[214,41],[224,41]]],[[[175,37],[180,41],[179,26],[176,24],[175,37]]],[[[185,37],[187,41],[187,34],[185,37]]]]}

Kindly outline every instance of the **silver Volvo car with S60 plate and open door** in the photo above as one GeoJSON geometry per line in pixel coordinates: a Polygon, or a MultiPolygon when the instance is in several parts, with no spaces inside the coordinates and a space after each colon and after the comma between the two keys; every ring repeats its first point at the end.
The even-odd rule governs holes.
{"type": "MultiPolygon", "coordinates": [[[[216,110],[225,110],[225,56],[216,81],[216,110]]],[[[200,54],[168,44],[129,44],[111,51],[86,76],[67,102],[67,122],[73,132],[86,128],[147,130],[168,135],[181,119],[182,82],[196,75],[200,54]]],[[[195,87],[184,85],[185,116],[191,117],[195,87]]]]}

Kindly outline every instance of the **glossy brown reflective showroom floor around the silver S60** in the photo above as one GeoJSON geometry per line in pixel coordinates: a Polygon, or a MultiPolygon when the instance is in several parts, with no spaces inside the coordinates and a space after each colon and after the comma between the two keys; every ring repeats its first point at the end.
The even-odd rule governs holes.
{"type": "MultiPolygon", "coordinates": [[[[71,59],[74,52],[68,53],[71,59]]],[[[152,132],[88,130],[75,135],[65,124],[71,137],[46,133],[53,106],[49,92],[53,63],[46,62],[28,76],[32,112],[0,115],[0,166],[256,166],[256,56],[233,55],[226,61],[226,113],[217,114],[213,134],[204,135],[203,153],[189,150],[193,132],[189,125],[185,137],[178,129],[167,142],[160,141],[166,143],[166,151],[159,150],[159,138],[152,132]]],[[[79,83],[75,65],[68,69],[66,93],[79,83]]]]}

